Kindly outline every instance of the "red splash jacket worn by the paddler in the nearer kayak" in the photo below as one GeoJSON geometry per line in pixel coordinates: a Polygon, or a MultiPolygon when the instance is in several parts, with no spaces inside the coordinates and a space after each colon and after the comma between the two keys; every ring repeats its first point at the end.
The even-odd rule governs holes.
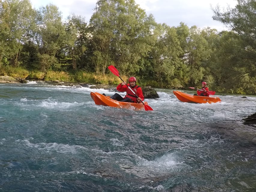
{"type": "MultiPolygon", "coordinates": [[[[144,101],[144,95],[140,86],[136,85],[134,88],[132,88],[130,84],[127,85],[134,91],[134,93],[136,93],[136,95],[138,95],[138,97],[141,98],[142,101],[144,101]]],[[[122,83],[120,83],[119,85],[117,85],[116,89],[120,92],[126,91],[125,98],[131,98],[131,100],[134,101],[134,103],[138,103],[137,97],[126,85],[122,85],[122,83]]]]}

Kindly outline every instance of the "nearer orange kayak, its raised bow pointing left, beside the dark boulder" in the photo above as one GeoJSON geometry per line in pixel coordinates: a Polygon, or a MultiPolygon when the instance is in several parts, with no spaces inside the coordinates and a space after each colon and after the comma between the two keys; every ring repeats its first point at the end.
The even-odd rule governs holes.
{"type": "MultiPolygon", "coordinates": [[[[126,109],[135,109],[135,110],[144,110],[144,105],[142,103],[128,103],[128,102],[120,102],[113,99],[110,99],[109,96],[104,96],[97,92],[91,92],[92,100],[96,105],[103,105],[109,107],[117,107],[117,108],[126,108],[126,109]]],[[[145,105],[148,105],[148,102],[144,101],[145,105]]]]}

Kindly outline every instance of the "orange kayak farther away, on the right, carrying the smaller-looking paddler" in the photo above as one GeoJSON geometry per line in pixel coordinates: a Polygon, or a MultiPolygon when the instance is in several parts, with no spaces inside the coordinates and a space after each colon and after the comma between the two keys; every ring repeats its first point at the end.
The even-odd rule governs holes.
{"type": "Polygon", "coordinates": [[[180,91],[173,91],[174,95],[182,102],[188,103],[217,103],[221,102],[218,97],[204,97],[198,95],[189,95],[180,91]]]}

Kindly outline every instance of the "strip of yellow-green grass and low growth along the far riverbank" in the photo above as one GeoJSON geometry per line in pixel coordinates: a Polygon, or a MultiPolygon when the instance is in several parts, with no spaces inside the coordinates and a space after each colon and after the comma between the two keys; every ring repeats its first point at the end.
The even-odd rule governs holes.
{"type": "MultiPolygon", "coordinates": [[[[115,76],[112,73],[108,73],[105,75],[96,75],[96,73],[89,73],[87,71],[77,70],[74,72],[64,72],[64,71],[53,71],[49,70],[46,73],[42,71],[29,71],[22,67],[0,67],[0,76],[11,76],[18,79],[36,79],[36,80],[46,80],[46,81],[63,81],[63,82],[73,82],[73,83],[92,83],[92,84],[104,84],[104,85],[118,85],[121,83],[121,79],[118,76],[115,76]]],[[[128,76],[122,74],[122,79],[128,82],[128,76]]],[[[174,79],[171,82],[171,85],[165,85],[162,82],[156,82],[155,80],[147,80],[137,78],[137,84],[140,86],[152,86],[159,88],[183,88],[179,80],[174,79]]],[[[235,93],[235,94],[248,94],[255,95],[255,87],[256,85],[250,85],[251,89],[245,91],[244,88],[233,88],[224,90],[224,88],[215,87],[214,90],[219,93],[227,92],[227,93],[235,93]]]]}

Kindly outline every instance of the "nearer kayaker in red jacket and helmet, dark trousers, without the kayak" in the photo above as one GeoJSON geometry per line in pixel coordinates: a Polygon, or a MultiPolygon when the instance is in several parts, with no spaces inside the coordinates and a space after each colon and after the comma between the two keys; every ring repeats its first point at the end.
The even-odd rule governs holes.
{"type": "Polygon", "coordinates": [[[127,84],[133,91],[136,93],[138,98],[133,94],[133,92],[126,86],[126,82],[122,82],[119,85],[117,85],[116,89],[117,91],[124,92],[126,91],[126,95],[124,98],[122,98],[121,95],[118,93],[115,93],[110,97],[110,99],[114,99],[117,101],[122,101],[122,102],[130,102],[130,103],[140,103],[140,101],[144,101],[144,96],[143,92],[140,86],[136,85],[136,78],[135,77],[130,77],[129,78],[129,83],[127,84]]]}

